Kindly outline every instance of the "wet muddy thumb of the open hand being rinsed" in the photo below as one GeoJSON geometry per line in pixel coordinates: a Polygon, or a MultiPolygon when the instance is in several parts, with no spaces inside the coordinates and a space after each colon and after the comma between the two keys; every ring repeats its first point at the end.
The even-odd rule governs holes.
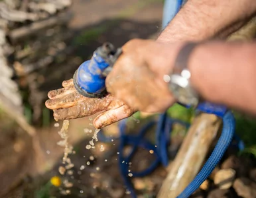
{"type": "Polygon", "coordinates": [[[126,104],[114,110],[107,110],[107,112],[103,112],[94,119],[94,127],[96,127],[96,129],[101,129],[102,127],[111,125],[121,119],[130,117],[135,112],[135,110],[132,110],[126,104]]]}

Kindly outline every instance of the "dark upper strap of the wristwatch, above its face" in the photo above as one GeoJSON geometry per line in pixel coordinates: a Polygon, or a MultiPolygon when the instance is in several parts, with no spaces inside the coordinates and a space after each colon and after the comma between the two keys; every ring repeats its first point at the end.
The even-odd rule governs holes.
{"type": "Polygon", "coordinates": [[[176,57],[172,73],[180,74],[182,70],[188,69],[188,60],[193,49],[198,46],[198,43],[189,42],[182,46],[176,57]]]}

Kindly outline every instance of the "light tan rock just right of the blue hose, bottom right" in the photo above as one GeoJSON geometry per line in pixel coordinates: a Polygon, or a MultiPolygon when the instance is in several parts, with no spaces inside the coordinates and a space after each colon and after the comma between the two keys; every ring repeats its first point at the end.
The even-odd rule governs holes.
{"type": "Polygon", "coordinates": [[[228,168],[219,170],[214,176],[214,184],[220,189],[229,189],[235,180],[235,170],[228,168]]]}

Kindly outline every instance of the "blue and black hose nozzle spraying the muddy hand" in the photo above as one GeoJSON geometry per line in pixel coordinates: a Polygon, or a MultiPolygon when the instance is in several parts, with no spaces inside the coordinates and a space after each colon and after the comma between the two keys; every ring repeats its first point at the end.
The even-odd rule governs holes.
{"type": "Polygon", "coordinates": [[[107,94],[105,78],[121,54],[121,48],[115,49],[105,43],[94,51],[92,59],[85,61],[74,73],[76,90],[88,98],[101,98],[107,94]]]}

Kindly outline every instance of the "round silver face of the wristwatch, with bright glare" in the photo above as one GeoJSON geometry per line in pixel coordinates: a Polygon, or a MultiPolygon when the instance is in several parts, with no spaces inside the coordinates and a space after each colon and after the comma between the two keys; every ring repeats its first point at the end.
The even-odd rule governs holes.
{"type": "Polygon", "coordinates": [[[170,90],[178,102],[196,106],[198,104],[198,96],[190,86],[188,79],[176,75],[176,77],[172,77],[172,80],[170,82],[170,90]]]}

